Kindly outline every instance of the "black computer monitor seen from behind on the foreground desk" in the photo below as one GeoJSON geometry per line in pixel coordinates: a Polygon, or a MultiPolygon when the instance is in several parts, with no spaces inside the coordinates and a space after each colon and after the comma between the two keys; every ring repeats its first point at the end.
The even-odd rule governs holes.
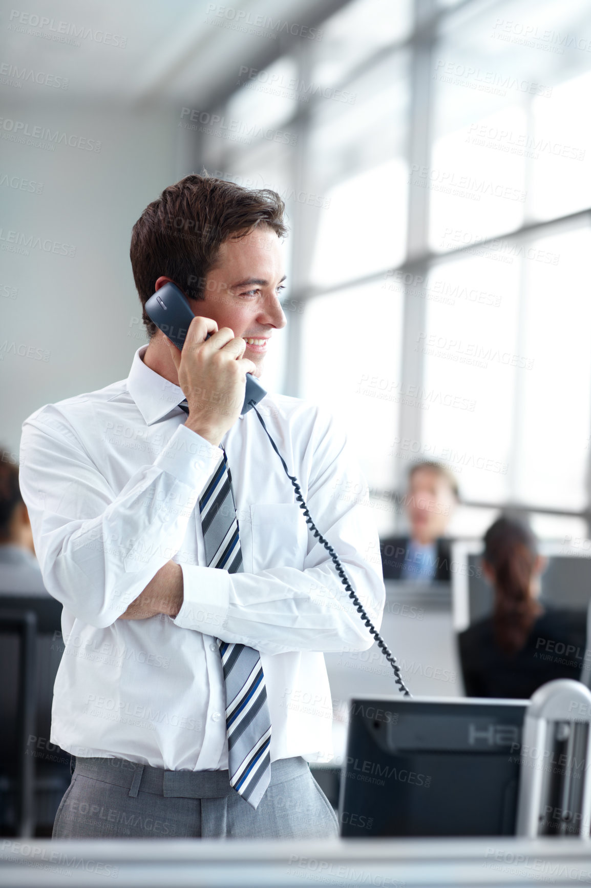
{"type": "Polygon", "coordinates": [[[341,835],[514,835],[528,705],[401,695],[352,699],[341,835]]]}

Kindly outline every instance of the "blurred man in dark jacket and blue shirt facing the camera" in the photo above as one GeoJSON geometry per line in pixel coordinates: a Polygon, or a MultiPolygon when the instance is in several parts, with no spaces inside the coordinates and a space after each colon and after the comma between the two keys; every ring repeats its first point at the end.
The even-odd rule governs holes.
{"type": "Polygon", "coordinates": [[[410,535],[380,541],[384,580],[450,580],[451,541],[445,534],[458,500],[458,484],[447,466],[435,462],[412,466],[404,498],[410,535]]]}

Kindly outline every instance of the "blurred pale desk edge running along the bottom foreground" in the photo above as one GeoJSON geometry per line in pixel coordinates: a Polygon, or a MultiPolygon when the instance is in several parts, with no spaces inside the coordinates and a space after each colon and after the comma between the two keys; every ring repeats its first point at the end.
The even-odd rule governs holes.
{"type": "Polygon", "coordinates": [[[574,838],[194,839],[19,841],[0,838],[11,888],[294,888],[306,885],[479,888],[591,884],[591,844],[574,838]]]}

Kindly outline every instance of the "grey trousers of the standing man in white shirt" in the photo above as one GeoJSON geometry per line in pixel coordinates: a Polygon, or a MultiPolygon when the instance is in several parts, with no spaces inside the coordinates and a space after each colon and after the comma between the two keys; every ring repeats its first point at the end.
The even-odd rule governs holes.
{"type": "Polygon", "coordinates": [[[324,838],[338,819],[302,757],[271,764],[256,811],[227,771],[164,771],[122,758],[75,759],[53,838],[324,838]]]}

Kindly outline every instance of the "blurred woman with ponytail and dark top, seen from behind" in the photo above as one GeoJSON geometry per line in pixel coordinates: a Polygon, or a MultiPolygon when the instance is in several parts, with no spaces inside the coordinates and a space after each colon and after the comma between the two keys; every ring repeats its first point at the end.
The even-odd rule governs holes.
{"type": "Polygon", "coordinates": [[[459,636],[467,696],[523,700],[553,678],[579,678],[587,613],[542,607],[544,567],[536,538],[522,522],[500,518],[486,531],[483,571],[494,606],[492,616],[459,636]]]}

